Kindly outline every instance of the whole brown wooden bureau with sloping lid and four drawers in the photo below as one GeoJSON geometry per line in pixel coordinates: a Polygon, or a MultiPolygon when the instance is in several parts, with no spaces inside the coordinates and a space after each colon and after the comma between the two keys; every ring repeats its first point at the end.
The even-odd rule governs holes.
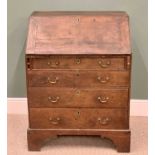
{"type": "Polygon", "coordinates": [[[34,12],[26,43],[28,148],[93,135],[130,151],[131,47],[125,12],[34,12]]]}

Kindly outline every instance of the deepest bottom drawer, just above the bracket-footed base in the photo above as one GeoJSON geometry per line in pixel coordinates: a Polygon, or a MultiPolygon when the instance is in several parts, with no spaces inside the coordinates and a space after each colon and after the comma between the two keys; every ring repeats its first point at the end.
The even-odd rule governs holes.
{"type": "Polygon", "coordinates": [[[128,111],[122,109],[30,108],[30,128],[127,129],[128,111]]]}

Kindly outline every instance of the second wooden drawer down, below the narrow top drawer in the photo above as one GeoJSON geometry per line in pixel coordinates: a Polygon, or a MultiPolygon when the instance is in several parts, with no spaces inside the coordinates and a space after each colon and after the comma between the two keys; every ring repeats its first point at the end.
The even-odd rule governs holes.
{"type": "Polygon", "coordinates": [[[29,71],[32,87],[104,88],[129,85],[128,71],[54,70],[29,71]]]}

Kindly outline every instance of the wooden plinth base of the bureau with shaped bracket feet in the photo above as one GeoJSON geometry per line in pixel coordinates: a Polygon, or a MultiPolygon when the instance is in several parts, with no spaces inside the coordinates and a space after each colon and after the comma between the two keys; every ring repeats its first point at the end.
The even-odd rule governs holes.
{"type": "Polygon", "coordinates": [[[91,135],[110,139],[118,152],[130,152],[130,130],[91,129],[28,129],[27,140],[30,151],[40,151],[47,139],[61,135],[91,135]]]}

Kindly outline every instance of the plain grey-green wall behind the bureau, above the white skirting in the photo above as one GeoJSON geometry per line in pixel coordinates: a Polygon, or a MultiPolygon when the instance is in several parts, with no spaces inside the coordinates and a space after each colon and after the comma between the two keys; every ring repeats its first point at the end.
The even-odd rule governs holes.
{"type": "Polygon", "coordinates": [[[133,99],[147,99],[147,0],[8,0],[8,97],[26,97],[24,44],[33,11],[126,11],[133,49],[133,99]]]}

